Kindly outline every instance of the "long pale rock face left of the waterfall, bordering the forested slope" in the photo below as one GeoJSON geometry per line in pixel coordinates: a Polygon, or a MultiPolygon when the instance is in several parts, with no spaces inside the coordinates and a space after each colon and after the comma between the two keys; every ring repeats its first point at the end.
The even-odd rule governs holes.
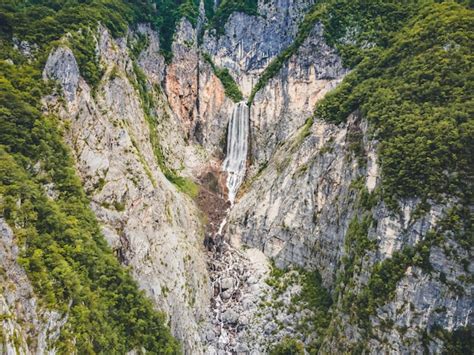
{"type": "MultiPolygon", "coordinates": [[[[158,49],[156,37],[149,36],[149,41],[152,58],[147,58],[145,51],[139,63],[152,83],[160,79],[162,71],[161,62],[151,63],[156,53],[150,48],[158,49]]],[[[164,142],[164,159],[169,154],[166,148],[172,147],[174,164],[179,166],[179,157],[186,150],[185,130],[150,83],[156,107],[148,114],[159,117],[161,123],[151,131],[147,121],[151,118],[135,88],[136,72],[126,41],[113,40],[102,29],[98,46],[106,74],[94,89],[78,76],[67,49],[52,52],[45,76],[58,79],[64,91],[71,76],[76,75],[73,81],[79,84],[66,107],[55,97],[49,98],[47,105],[67,122],[67,141],[107,241],[119,260],[131,267],[141,288],[170,316],[172,331],[184,349],[199,353],[198,323],[209,302],[200,212],[163,175],[150,140],[150,135],[158,132],[164,142]]],[[[186,154],[192,162],[192,152],[186,154]]]]}

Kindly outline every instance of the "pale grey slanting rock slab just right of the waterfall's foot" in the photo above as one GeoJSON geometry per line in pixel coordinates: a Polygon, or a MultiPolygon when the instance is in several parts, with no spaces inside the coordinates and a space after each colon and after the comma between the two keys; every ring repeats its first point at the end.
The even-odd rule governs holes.
{"type": "Polygon", "coordinates": [[[354,213],[350,184],[359,174],[347,152],[347,132],[316,122],[307,140],[295,133],[233,208],[229,235],[257,246],[280,267],[318,266],[332,284],[354,213]]]}

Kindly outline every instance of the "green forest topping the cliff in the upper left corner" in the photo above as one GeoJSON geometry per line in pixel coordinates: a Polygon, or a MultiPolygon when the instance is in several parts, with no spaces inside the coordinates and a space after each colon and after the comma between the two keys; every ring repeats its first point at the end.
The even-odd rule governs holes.
{"type": "Polygon", "coordinates": [[[102,75],[96,50],[95,29],[98,23],[106,26],[113,36],[123,36],[129,26],[149,22],[154,9],[148,0],[70,0],[70,1],[13,1],[0,3],[0,58],[12,59],[16,64],[25,61],[12,48],[13,36],[30,43],[38,59],[32,65],[41,67],[53,45],[66,32],[81,75],[95,89],[102,75]]]}

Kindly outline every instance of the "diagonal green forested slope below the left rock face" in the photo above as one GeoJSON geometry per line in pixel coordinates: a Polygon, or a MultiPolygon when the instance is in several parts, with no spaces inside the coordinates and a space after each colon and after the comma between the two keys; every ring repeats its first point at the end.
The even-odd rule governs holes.
{"type": "Polygon", "coordinates": [[[177,344],[164,317],[153,310],[101,236],[54,127],[47,118],[35,122],[38,146],[32,148],[41,156],[43,176],[25,169],[28,157],[0,150],[0,210],[15,226],[20,262],[43,305],[69,314],[58,350],[125,353],[144,346],[173,353],[177,344]],[[59,192],[56,201],[41,188],[50,179],[59,192]]]}

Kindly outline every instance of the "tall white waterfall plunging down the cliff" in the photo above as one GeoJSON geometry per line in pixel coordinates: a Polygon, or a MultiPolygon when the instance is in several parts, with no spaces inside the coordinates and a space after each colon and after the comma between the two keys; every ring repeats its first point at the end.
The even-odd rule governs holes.
{"type": "Polygon", "coordinates": [[[227,132],[227,152],[223,170],[227,172],[229,201],[235,195],[245,177],[249,137],[249,107],[242,101],[235,105],[227,132]]]}

